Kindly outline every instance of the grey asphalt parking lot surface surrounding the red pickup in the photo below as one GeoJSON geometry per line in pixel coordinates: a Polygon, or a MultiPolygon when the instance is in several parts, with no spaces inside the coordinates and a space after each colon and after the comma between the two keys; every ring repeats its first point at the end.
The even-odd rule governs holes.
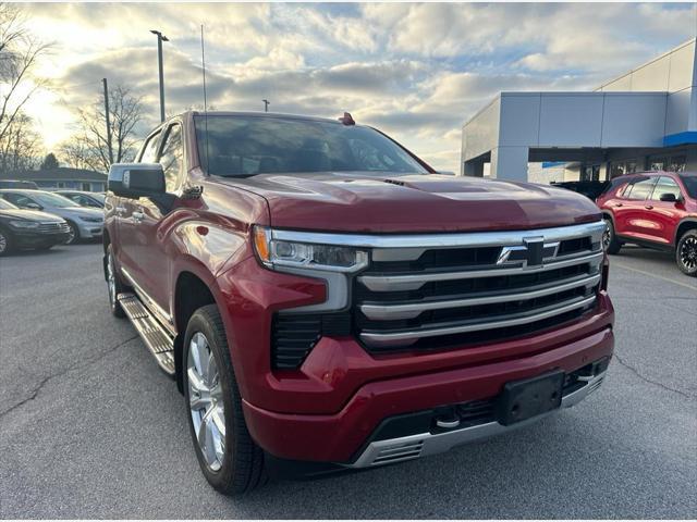
{"type": "Polygon", "coordinates": [[[616,348],[587,401],[527,428],[231,499],[198,470],[184,400],[109,313],[101,247],[0,259],[2,518],[695,518],[697,279],[611,259],[616,348]]]}

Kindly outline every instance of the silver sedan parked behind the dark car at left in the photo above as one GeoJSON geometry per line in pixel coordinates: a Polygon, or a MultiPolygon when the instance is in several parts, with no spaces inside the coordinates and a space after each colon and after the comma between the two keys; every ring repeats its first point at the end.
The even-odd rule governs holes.
{"type": "Polygon", "coordinates": [[[58,194],[46,190],[2,189],[0,198],[21,209],[42,210],[60,215],[70,226],[68,245],[101,237],[105,217],[101,209],[87,209],[58,194]]]}

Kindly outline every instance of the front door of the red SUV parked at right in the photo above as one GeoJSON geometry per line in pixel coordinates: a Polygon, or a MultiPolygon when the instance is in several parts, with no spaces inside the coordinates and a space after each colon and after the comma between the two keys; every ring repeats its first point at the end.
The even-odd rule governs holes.
{"type": "Polygon", "coordinates": [[[670,176],[659,176],[651,196],[646,201],[641,234],[651,241],[671,245],[675,237],[675,227],[685,212],[683,201],[677,183],[670,176]],[[673,195],[675,201],[661,201],[664,194],[673,195]]]}

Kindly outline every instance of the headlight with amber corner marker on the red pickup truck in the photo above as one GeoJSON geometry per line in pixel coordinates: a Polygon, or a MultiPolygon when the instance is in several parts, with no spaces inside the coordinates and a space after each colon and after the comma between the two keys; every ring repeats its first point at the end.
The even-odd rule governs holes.
{"type": "Polygon", "coordinates": [[[281,240],[265,226],[254,227],[254,247],[269,269],[289,266],[329,272],[355,272],[368,264],[368,252],[352,247],[281,240]]]}

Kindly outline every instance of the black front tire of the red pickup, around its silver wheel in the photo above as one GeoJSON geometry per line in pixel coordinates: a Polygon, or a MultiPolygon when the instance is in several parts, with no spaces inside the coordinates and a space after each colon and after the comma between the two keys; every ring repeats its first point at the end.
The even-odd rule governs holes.
{"type": "Polygon", "coordinates": [[[189,433],[196,451],[196,458],[208,483],[218,492],[224,495],[242,495],[264,485],[268,481],[268,475],[264,469],[264,451],[252,439],[247,430],[244,414],[242,412],[242,397],[235,381],[228,339],[223,328],[222,319],[215,304],[208,304],[194,312],[186,327],[184,336],[184,348],[182,356],[184,397],[186,399],[186,418],[188,420],[189,433]],[[201,333],[210,352],[215,358],[219,369],[219,383],[222,387],[222,402],[224,409],[223,435],[224,450],[222,463],[217,471],[213,471],[201,452],[189,408],[189,384],[188,384],[188,352],[192,337],[196,333],[201,333]]]}

